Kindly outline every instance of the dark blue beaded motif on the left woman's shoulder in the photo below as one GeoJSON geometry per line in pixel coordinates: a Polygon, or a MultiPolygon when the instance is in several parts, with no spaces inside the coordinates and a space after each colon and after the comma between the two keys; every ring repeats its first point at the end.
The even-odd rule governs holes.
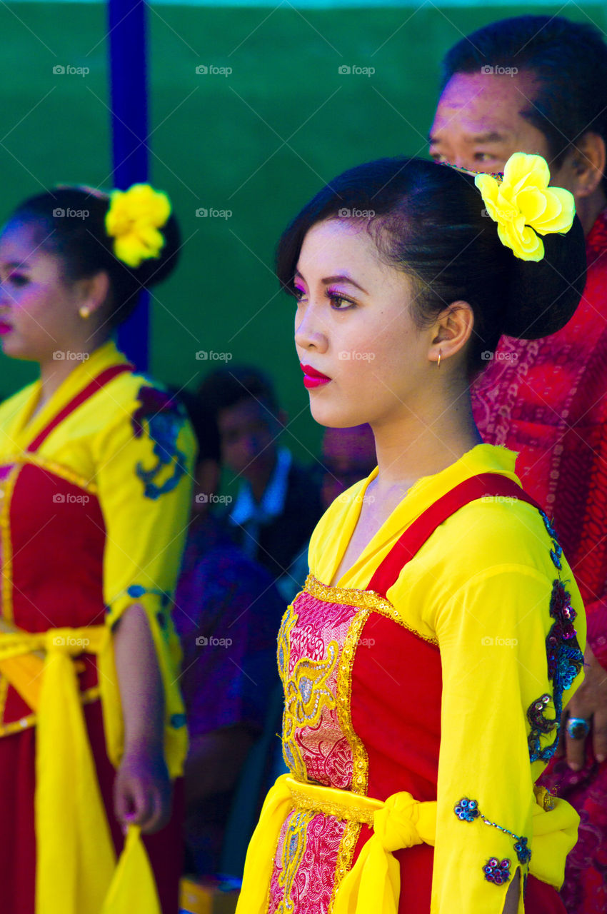
{"type": "Polygon", "coordinates": [[[140,461],[135,467],[135,473],[144,484],[144,496],[156,499],[166,492],[171,492],[186,473],[186,455],[177,448],[176,443],[179,432],[186,422],[186,409],[169,394],[146,385],[139,388],[137,399],[141,405],[135,409],[131,420],[134,435],[135,438],[141,437],[145,422],[148,434],[154,441],[156,463],[150,470],[145,470],[140,461]],[[158,485],[154,481],[155,478],[165,467],[171,466],[172,475],[158,485]]]}

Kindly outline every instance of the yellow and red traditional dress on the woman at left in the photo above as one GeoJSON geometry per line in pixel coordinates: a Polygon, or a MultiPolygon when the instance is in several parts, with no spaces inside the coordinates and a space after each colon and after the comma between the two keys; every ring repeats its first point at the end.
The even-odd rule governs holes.
{"type": "MultiPolygon", "coordinates": [[[[35,412],[39,396],[38,380],[0,406],[0,909],[98,914],[123,843],[112,625],[134,603],[165,685],[173,778],[186,753],[171,605],[195,442],[183,410],[112,341],[35,412]]],[[[144,843],[173,914],[177,818],[144,843]]]]}

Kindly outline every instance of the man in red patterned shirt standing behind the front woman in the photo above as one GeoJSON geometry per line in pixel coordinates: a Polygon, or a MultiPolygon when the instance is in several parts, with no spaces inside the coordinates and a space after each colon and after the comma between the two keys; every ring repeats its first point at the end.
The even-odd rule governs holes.
{"type": "Polygon", "coordinates": [[[478,429],[518,452],[516,473],[554,521],[588,617],[585,681],[566,712],[562,757],[542,778],[581,816],[561,892],[570,914],[607,910],[606,143],[607,45],[597,28],[516,16],[445,55],[432,157],[496,173],[516,151],[541,154],[551,184],[575,197],[586,234],[588,279],[569,323],[548,338],[503,336],[472,388],[478,429]]]}

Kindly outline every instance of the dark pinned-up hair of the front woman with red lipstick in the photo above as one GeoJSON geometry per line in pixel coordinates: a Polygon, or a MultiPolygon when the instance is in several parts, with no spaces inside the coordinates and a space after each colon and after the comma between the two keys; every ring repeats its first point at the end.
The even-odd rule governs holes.
{"type": "Polygon", "coordinates": [[[473,174],[401,156],[337,175],[293,219],[276,251],[276,274],[287,292],[294,294],[306,232],[324,219],[341,218],[344,209],[375,214],[367,228],[382,259],[410,276],[419,326],[431,326],[449,303],[470,304],[470,376],[486,367],[486,352],[495,351],[501,335],[556,333],[580,303],[586,246],[577,217],[567,233],[542,236],[542,260],[520,260],[487,218],[473,174]]]}

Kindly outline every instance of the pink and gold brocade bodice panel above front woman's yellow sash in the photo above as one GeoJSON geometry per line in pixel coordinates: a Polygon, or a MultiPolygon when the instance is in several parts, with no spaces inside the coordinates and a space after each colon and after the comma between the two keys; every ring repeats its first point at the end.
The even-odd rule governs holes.
{"type": "Polygon", "coordinates": [[[349,790],[353,755],[338,716],[337,678],[356,608],[302,592],[282,618],[282,750],[300,781],[349,790]]]}

